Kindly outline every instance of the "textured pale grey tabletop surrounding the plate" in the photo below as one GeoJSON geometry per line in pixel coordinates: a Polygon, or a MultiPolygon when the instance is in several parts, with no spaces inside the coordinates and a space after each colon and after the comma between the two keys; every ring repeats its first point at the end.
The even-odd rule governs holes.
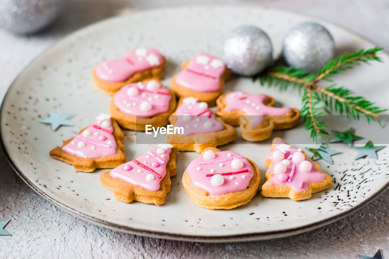
{"type": "MultiPolygon", "coordinates": [[[[22,37],[0,30],[0,100],[25,65],[77,28],[117,14],[149,7],[210,1],[70,0],[61,17],[44,32],[22,37]],[[162,2],[162,1],[161,1],[162,2]]],[[[212,1],[295,10],[363,35],[389,51],[389,3],[374,1],[212,1]],[[374,29],[372,29],[374,28],[374,29]]],[[[340,221],[289,238],[203,244],[159,240],[100,228],[64,212],[30,189],[0,151],[0,221],[11,237],[0,236],[0,258],[8,257],[287,257],[359,258],[382,249],[389,258],[389,191],[340,221]]]]}

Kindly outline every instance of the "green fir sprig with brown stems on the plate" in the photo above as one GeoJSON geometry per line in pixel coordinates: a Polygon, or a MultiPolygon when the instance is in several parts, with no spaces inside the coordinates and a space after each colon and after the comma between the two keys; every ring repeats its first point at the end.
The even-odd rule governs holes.
{"type": "Polygon", "coordinates": [[[322,110],[327,112],[335,111],[340,115],[352,116],[359,120],[359,115],[365,115],[368,122],[370,119],[380,123],[380,113],[387,109],[374,106],[374,103],[366,100],[363,96],[354,96],[354,92],[345,87],[337,87],[332,84],[328,87],[317,85],[320,80],[328,80],[332,75],[343,73],[361,62],[369,64],[369,61],[382,62],[375,55],[381,51],[381,47],[354,51],[350,54],[343,54],[329,61],[318,72],[307,72],[299,68],[287,66],[274,66],[265,71],[258,78],[260,84],[268,84],[269,87],[279,87],[286,91],[290,84],[293,88],[298,87],[299,94],[303,90],[301,119],[305,120],[305,128],[310,130],[311,138],[317,142],[317,136],[328,137],[325,130],[327,123],[321,121],[322,110]],[[321,105],[319,107],[319,105],[321,105]]]}

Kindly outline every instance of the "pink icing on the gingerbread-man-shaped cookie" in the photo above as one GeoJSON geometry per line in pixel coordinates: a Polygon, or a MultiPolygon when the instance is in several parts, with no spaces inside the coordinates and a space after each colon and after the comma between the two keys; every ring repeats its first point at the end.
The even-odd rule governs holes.
{"type": "Polygon", "coordinates": [[[231,92],[226,95],[228,105],[226,111],[242,110],[246,115],[252,115],[251,126],[258,126],[263,123],[265,115],[286,115],[291,113],[290,108],[277,108],[265,105],[267,99],[264,94],[251,95],[243,92],[231,92]]]}

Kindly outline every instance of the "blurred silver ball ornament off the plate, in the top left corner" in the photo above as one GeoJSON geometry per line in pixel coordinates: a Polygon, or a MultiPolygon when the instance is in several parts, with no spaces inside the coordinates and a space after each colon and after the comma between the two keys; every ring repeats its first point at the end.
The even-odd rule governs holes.
{"type": "Polygon", "coordinates": [[[0,0],[0,27],[14,33],[32,33],[51,24],[65,0],[0,0]]]}

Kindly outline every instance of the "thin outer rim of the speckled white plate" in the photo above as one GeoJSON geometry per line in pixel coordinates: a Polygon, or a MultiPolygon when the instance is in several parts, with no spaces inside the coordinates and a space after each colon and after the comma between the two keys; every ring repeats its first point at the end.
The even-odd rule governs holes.
{"type": "MultiPolygon", "coordinates": [[[[164,8],[156,8],[156,9],[158,9],[158,10],[180,9],[180,8],[190,8],[190,7],[196,7],[196,6],[203,6],[203,5],[187,5],[187,6],[164,7],[164,8]]],[[[236,8],[247,8],[247,7],[249,7],[249,5],[240,5],[240,6],[238,6],[238,5],[209,5],[209,6],[220,6],[220,7],[223,7],[223,6],[234,6],[236,8]]],[[[304,16],[304,17],[310,18],[310,16],[307,16],[307,15],[304,15],[304,14],[300,14],[298,12],[294,12],[294,11],[291,11],[291,10],[285,10],[285,9],[279,9],[279,8],[270,8],[270,7],[261,7],[261,6],[250,6],[250,7],[251,8],[258,8],[258,9],[272,9],[272,10],[275,10],[275,11],[292,13],[292,14],[297,14],[299,16],[304,16]]],[[[147,10],[142,10],[142,11],[139,11],[139,12],[149,12],[149,11],[154,11],[156,9],[147,9],[147,10]]],[[[131,14],[128,14],[128,15],[131,15],[131,14]]],[[[96,23],[92,23],[92,24],[87,25],[87,26],[85,26],[83,28],[75,30],[74,32],[70,33],[69,35],[67,35],[67,36],[63,37],[62,39],[58,40],[56,43],[54,43],[52,46],[47,48],[39,56],[34,58],[28,65],[26,65],[23,68],[23,70],[19,73],[19,75],[13,80],[13,82],[9,86],[9,88],[7,90],[7,93],[5,94],[5,96],[4,96],[3,100],[2,100],[2,105],[1,105],[1,108],[0,108],[0,121],[2,121],[2,116],[3,116],[4,100],[9,95],[11,87],[14,86],[14,83],[16,82],[16,80],[18,80],[19,76],[26,70],[26,68],[31,66],[35,62],[36,59],[38,59],[42,54],[44,54],[47,51],[50,51],[52,48],[56,47],[57,44],[59,44],[61,41],[65,40],[65,39],[68,39],[69,37],[72,37],[75,33],[82,32],[83,30],[88,30],[90,27],[98,26],[98,25],[100,25],[100,23],[105,23],[106,21],[109,21],[109,20],[112,20],[112,19],[120,19],[120,17],[122,17],[122,16],[110,17],[108,19],[104,19],[102,21],[99,21],[99,22],[96,22],[96,23]]],[[[324,19],[317,19],[317,18],[315,18],[315,20],[325,21],[324,19]]],[[[349,33],[352,33],[353,35],[355,35],[356,37],[358,37],[361,40],[365,40],[366,42],[369,42],[372,45],[376,45],[376,44],[373,44],[371,42],[371,40],[368,40],[368,39],[360,36],[359,34],[344,28],[343,26],[337,25],[336,23],[332,23],[331,21],[326,21],[326,22],[327,23],[331,23],[333,26],[338,27],[338,28],[340,28],[342,30],[345,30],[345,31],[347,31],[349,33]]],[[[386,53],[385,51],[383,53],[389,56],[389,53],[386,53]]],[[[45,198],[49,202],[53,203],[54,205],[62,208],[63,210],[69,212],[70,214],[75,215],[75,216],[77,216],[77,217],[79,217],[81,219],[84,219],[84,220],[86,220],[88,222],[91,222],[93,224],[96,224],[96,225],[99,225],[99,226],[102,226],[102,227],[105,227],[105,228],[114,229],[114,230],[117,230],[117,231],[123,231],[123,232],[126,232],[126,233],[135,234],[135,235],[149,236],[149,237],[154,237],[154,238],[164,238],[164,239],[170,239],[170,240],[191,241],[191,242],[214,242],[214,243],[221,243],[221,242],[242,242],[242,241],[254,241],[254,240],[269,240],[269,239],[274,239],[274,238],[281,238],[281,237],[286,237],[286,236],[298,235],[298,234],[301,234],[301,233],[304,233],[304,232],[308,232],[308,231],[320,228],[322,226],[326,226],[328,224],[331,224],[332,222],[335,222],[335,221],[337,221],[339,219],[342,219],[343,217],[346,217],[346,216],[352,214],[353,212],[356,212],[357,210],[359,210],[359,209],[365,207],[366,205],[368,205],[371,201],[373,201],[376,198],[378,198],[378,196],[380,196],[382,193],[384,193],[384,191],[386,189],[389,188],[389,182],[388,182],[387,184],[382,186],[377,192],[375,192],[369,198],[367,198],[365,201],[363,201],[361,204],[359,204],[359,205],[357,205],[355,207],[352,207],[349,210],[347,210],[347,211],[345,211],[345,212],[343,212],[341,214],[338,214],[336,216],[329,217],[329,218],[324,219],[322,221],[314,222],[312,224],[307,224],[305,226],[300,226],[300,227],[297,227],[297,228],[289,228],[289,229],[283,229],[283,230],[279,230],[279,231],[253,232],[253,233],[234,234],[234,235],[209,235],[209,236],[205,236],[205,235],[182,235],[182,234],[177,234],[177,233],[170,233],[170,232],[163,232],[163,231],[151,231],[151,230],[147,230],[147,229],[132,228],[132,227],[129,227],[129,226],[124,226],[124,225],[120,225],[120,224],[114,224],[112,222],[103,221],[101,219],[97,219],[95,217],[92,217],[92,216],[86,215],[84,213],[81,213],[81,212],[79,212],[79,211],[77,211],[77,210],[75,210],[73,208],[70,208],[67,205],[64,205],[63,203],[60,203],[59,201],[55,200],[54,198],[49,196],[47,193],[42,192],[37,186],[35,186],[30,180],[27,179],[27,177],[23,174],[23,172],[21,172],[21,170],[19,170],[19,168],[15,165],[14,161],[12,161],[11,157],[9,156],[9,154],[7,152],[7,149],[6,149],[5,145],[4,145],[3,135],[1,134],[1,131],[0,131],[0,145],[1,145],[2,149],[3,149],[3,151],[4,151],[4,155],[7,158],[7,161],[11,165],[12,169],[19,175],[19,177],[28,186],[30,186],[40,196],[42,196],[43,198],[45,198]]]]}

